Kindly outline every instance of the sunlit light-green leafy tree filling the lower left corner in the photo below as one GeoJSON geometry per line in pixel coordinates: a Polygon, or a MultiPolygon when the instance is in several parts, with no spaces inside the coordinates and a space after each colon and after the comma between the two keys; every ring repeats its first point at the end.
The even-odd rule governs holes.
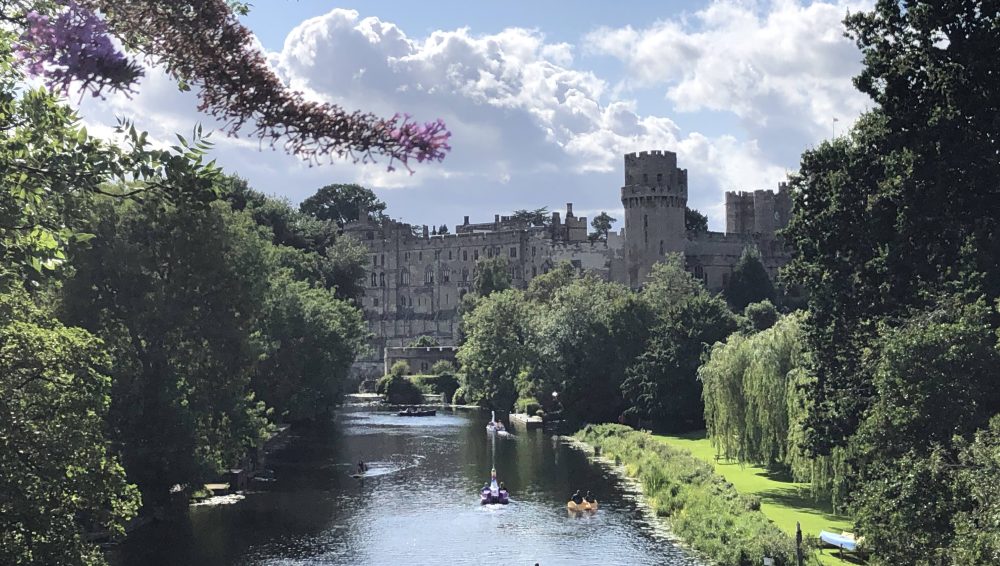
{"type": "Polygon", "coordinates": [[[0,562],[104,563],[84,533],[121,534],[138,508],[105,438],[101,341],[16,287],[0,294],[0,562]]]}

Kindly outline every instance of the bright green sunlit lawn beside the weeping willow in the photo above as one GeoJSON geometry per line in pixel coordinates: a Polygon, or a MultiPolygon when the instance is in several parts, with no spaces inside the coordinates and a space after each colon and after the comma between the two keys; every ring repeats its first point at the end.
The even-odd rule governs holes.
{"type": "MultiPolygon", "coordinates": [[[[756,466],[741,466],[730,461],[716,461],[715,448],[705,438],[705,434],[694,433],[680,436],[654,435],[655,438],[674,447],[691,452],[696,458],[712,464],[715,473],[726,478],[740,493],[753,494],[760,498],[760,509],[768,519],[792,537],[795,523],[802,525],[802,538],[816,540],[820,531],[839,533],[853,529],[848,517],[834,515],[830,505],[819,502],[809,494],[809,486],[795,483],[788,478],[756,466]]],[[[840,560],[827,549],[820,553],[823,564],[852,564],[854,561],[840,560]]]]}

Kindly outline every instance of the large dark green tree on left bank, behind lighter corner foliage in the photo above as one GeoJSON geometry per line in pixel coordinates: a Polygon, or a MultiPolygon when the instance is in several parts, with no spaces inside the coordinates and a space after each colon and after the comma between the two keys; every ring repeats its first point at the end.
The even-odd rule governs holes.
{"type": "Polygon", "coordinates": [[[68,320],[109,347],[109,429],[144,500],[212,477],[261,438],[250,380],[264,352],[270,234],[225,203],[98,202],[63,289],[68,320]]]}

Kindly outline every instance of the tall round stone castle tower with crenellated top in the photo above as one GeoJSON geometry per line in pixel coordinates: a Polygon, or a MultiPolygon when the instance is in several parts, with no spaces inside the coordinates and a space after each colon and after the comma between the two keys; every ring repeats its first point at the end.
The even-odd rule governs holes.
{"type": "Polygon", "coordinates": [[[687,170],[672,151],[625,154],[625,262],[628,284],[638,287],[664,254],[684,252],[687,170]]]}

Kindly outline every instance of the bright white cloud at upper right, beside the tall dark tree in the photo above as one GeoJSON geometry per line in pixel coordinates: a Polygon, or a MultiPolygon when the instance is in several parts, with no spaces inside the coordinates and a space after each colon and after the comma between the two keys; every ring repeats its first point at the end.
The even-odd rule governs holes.
{"type": "Polygon", "coordinates": [[[665,87],[681,112],[732,113],[766,155],[787,163],[829,135],[833,118],[850,123],[869,103],[851,83],[861,56],[842,20],[870,7],[719,0],[644,29],[601,28],[584,44],[624,63],[626,87],[665,87]]]}

